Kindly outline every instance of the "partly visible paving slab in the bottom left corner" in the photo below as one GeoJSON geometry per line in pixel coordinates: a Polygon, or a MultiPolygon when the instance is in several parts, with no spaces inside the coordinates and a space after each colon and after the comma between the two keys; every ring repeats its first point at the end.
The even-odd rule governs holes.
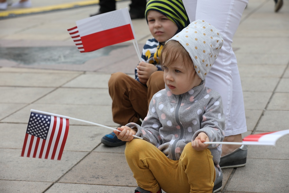
{"type": "Polygon", "coordinates": [[[0,192],[44,192],[52,183],[51,182],[35,182],[35,181],[11,181],[0,180],[0,192]]]}

